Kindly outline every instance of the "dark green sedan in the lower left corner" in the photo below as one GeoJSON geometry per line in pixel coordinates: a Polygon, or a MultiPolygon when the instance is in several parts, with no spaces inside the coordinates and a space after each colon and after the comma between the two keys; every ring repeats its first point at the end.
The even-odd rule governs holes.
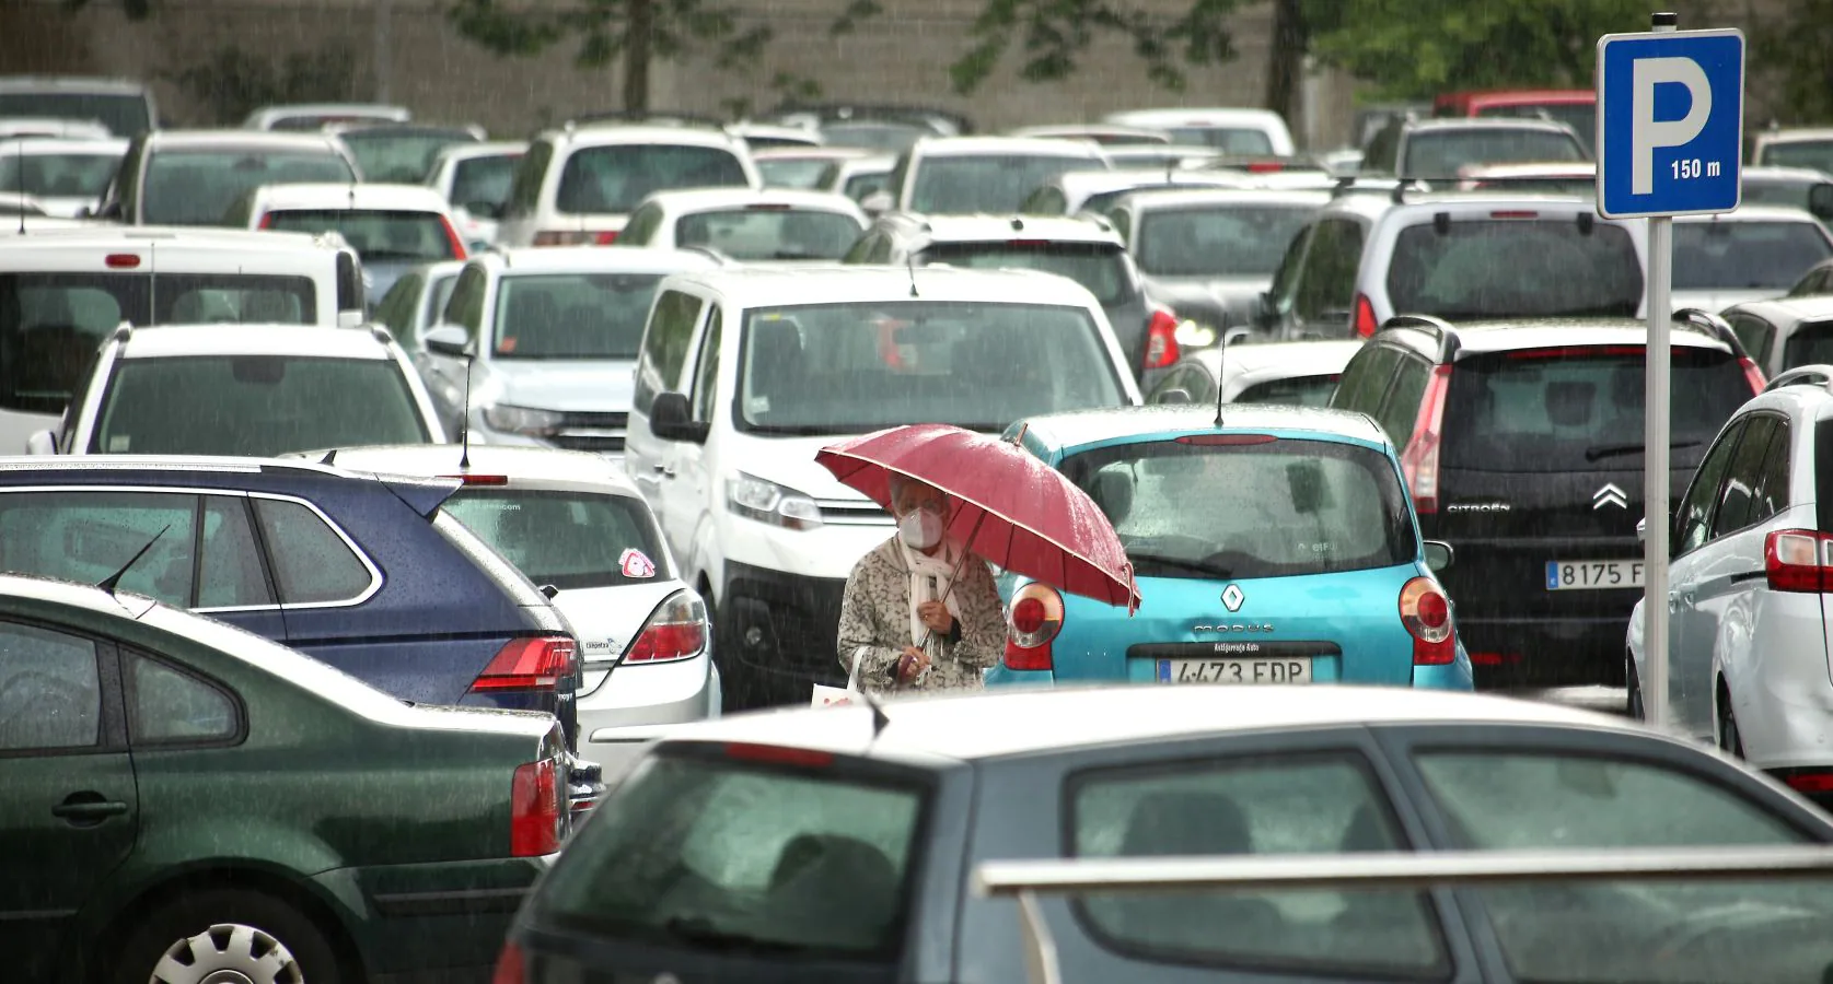
{"type": "Polygon", "coordinates": [[[0,980],[488,980],[566,834],[548,715],[0,577],[0,980]]]}

